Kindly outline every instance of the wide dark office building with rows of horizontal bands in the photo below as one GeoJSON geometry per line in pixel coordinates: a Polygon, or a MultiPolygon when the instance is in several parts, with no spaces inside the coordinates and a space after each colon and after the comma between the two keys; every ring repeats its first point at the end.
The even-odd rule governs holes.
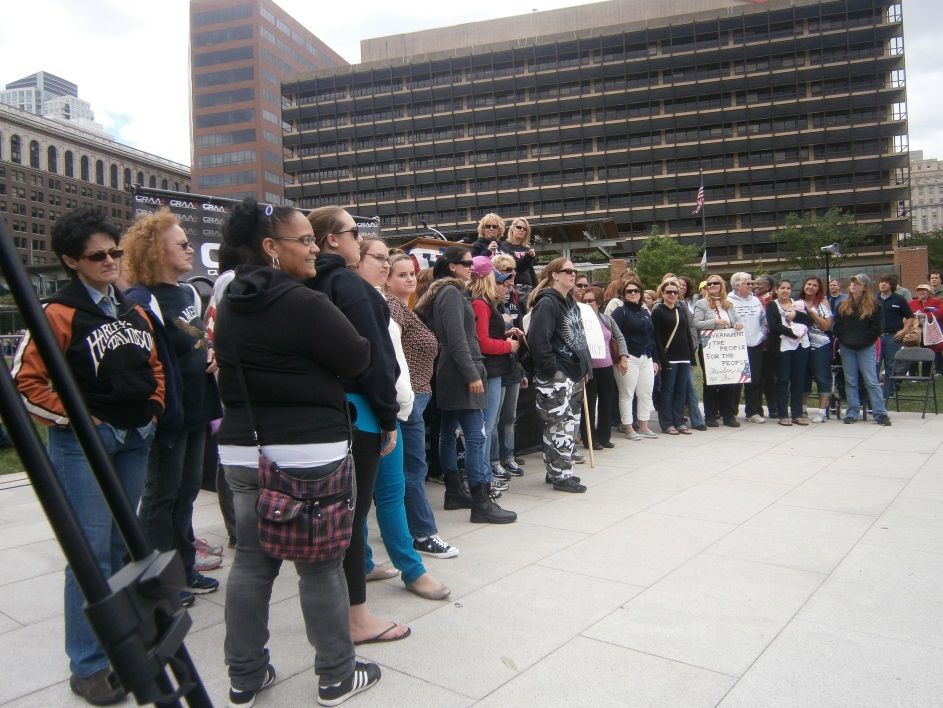
{"type": "Polygon", "coordinates": [[[612,0],[362,54],[283,86],[301,207],[452,238],[494,211],[555,248],[629,256],[658,227],[730,269],[781,258],[789,213],[871,225],[862,262],[910,231],[896,0],[612,0]]]}

